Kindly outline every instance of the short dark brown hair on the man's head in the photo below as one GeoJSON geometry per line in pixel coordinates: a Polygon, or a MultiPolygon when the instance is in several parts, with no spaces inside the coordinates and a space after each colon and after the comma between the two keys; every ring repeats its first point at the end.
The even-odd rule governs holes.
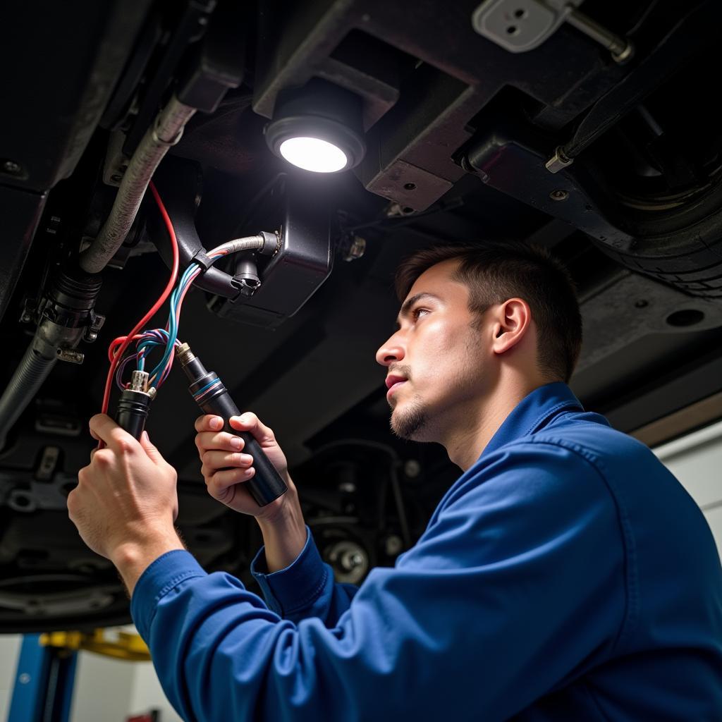
{"type": "Polygon", "coordinates": [[[455,278],[469,287],[469,310],[523,298],[539,331],[537,363],[543,373],[568,381],[582,344],[582,318],[574,282],[549,251],[521,241],[484,245],[435,245],[417,251],[396,271],[396,295],[404,300],[431,266],[458,259],[455,278]]]}

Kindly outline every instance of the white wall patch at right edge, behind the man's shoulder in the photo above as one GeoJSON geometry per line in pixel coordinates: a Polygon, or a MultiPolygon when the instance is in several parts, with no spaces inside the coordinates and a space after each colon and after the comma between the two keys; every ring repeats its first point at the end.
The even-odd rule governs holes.
{"type": "Polygon", "coordinates": [[[722,557],[722,422],[653,451],[700,505],[722,557]]]}

